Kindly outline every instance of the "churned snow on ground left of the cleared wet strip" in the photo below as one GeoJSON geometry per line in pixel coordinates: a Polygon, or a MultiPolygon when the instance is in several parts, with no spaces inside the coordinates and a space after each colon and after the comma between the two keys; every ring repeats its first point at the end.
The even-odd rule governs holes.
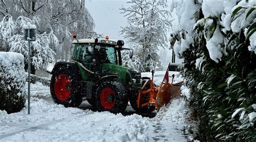
{"type": "Polygon", "coordinates": [[[3,141],[148,141],[149,121],[133,114],[92,112],[32,99],[31,114],[0,111],[3,141]],[[2,115],[3,114],[3,115],[2,115]],[[12,133],[10,136],[8,133],[12,133]]]}

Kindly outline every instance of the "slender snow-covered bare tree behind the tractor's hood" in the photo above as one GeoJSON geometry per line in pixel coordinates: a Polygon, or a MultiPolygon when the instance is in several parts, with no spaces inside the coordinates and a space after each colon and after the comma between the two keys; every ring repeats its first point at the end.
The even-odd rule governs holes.
{"type": "MultiPolygon", "coordinates": [[[[170,28],[171,16],[166,0],[133,0],[127,2],[129,8],[121,8],[130,25],[121,31],[133,43],[136,59],[131,64],[139,64],[140,71],[150,71],[160,66],[158,47],[167,46],[166,31],[170,28]],[[136,62],[134,62],[136,61],[136,62]]],[[[134,65],[133,65],[134,66],[134,65]]]]}

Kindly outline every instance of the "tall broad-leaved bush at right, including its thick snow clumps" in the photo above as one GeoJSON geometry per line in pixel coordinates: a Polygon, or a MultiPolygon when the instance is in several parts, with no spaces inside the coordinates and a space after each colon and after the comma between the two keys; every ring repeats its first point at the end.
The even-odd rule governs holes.
{"type": "Polygon", "coordinates": [[[174,9],[170,42],[184,59],[191,120],[199,124],[191,133],[202,141],[255,141],[256,1],[172,0],[174,9]]]}

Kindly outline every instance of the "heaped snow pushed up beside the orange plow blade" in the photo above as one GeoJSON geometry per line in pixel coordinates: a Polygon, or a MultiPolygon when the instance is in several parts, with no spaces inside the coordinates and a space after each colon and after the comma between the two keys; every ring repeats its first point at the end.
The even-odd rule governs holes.
{"type": "Polygon", "coordinates": [[[177,98],[172,100],[171,104],[161,107],[157,116],[152,118],[152,120],[171,121],[177,124],[184,124],[186,113],[186,100],[177,98]]]}

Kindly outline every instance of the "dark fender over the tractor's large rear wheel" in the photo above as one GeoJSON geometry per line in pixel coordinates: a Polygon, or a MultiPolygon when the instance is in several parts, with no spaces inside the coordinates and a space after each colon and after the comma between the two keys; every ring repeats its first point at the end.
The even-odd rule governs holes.
{"type": "Polygon", "coordinates": [[[57,62],[55,64],[55,66],[53,67],[52,71],[51,71],[51,75],[52,75],[52,73],[54,73],[55,71],[57,71],[59,69],[73,70],[73,71],[77,70],[79,72],[79,68],[78,68],[76,63],[73,63],[73,62],[57,62]]]}

